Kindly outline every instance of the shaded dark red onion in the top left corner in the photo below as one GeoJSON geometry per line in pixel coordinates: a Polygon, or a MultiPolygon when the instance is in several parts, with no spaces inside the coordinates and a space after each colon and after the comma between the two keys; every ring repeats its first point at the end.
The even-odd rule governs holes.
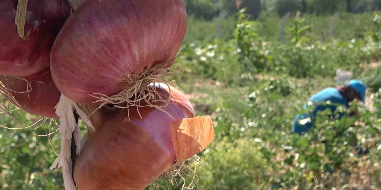
{"type": "Polygon", "coordinates": [[[0,0],[0,74],[31,76],[49,67],[50,50],[70,16],[66,0],[28,0],[25,40],[17,32],[17,0],[0,0]]]}

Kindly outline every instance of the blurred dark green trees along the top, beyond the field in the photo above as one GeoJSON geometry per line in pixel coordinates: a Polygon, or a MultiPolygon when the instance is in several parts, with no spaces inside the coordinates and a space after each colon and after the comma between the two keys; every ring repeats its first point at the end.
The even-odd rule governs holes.
{"type": "Polygon", "coordinates": [[[184,0],[189,14],[211,20],[221,11],[234,15],[236,5],[246,7],[248,13],[257,18],[264,12],[283,16],[288,12],[329,15],[337,12],[364,13],[381,9],[380,0],[184,0]]]}

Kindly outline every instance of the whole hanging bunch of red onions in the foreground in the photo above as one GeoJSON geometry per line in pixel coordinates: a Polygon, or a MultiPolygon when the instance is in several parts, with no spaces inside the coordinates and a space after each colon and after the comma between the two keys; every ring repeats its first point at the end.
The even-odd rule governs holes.
{"type": "Polygon", "coordinates": [[[2,0],[0,19],[0,93],[60,120],[51,169],[66,190],[144,189],[213,140],[211,119],[160,81],[186,32],[181,0],[2,0]]]}

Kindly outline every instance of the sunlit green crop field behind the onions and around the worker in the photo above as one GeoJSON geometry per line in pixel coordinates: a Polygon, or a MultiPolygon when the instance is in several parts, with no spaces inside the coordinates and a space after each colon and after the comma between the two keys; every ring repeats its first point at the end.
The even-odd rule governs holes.
{"type": "MultiPolygon", "coordinates": [[[[215,141],[199,154],[203,166],[191,165],[197,165],[200,179],[195,189],[380,189],[377,14],[339,15],[334,39],[329,37],[331,16],[292,15],[283,43],[278,16],[263,14],[252,21],[242,12],[228,17],[219,40],[216,19],[190,17],[175,65],[181,72],[165,80],[175,80],[172,85],[186,93],[197,114],[214,122],[215,141]],[[295,115],[312,94],[336,86],[337,69],[352,70],[369,87],[366,105],[352,105],[359,116],[332,120],[322,113],[308,136],[293,135],[295,115]],[[347,146],[354,141],[370,147],[370,154],[356,155],[347,146]]],[[[23,126],[38,120],[22,111],[13,115],[23,126]]],[[[0,124],[20,126],[6,114],[0,115],[0,124]]],[[[59,169],[48,169],[56,158],[50,141],[59,148],[58,133],[35,136],[55,130],[47,123],[37,129],[0,129],[1,190],[63,189],[59,169]]],[[[159,189],[166,189],[163,183],[159,189]]]]}

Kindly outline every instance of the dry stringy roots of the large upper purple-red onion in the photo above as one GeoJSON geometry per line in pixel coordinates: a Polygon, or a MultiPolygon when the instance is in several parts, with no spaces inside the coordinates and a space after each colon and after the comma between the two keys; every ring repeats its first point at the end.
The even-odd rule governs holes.
{"type": "MultiPolygon", "coordinates": [[[[96,101],[94,101],[93,103],[101,103],[101,105],[97,109],[101,108],[104,105],[113,104],[115,107],[123,109],[128,109],[131,106],[154,107],[165,112],[161,108],[168,106],[171,102],[171,98],[170,95],[168,95],[168,98],[163,98],[162,96],[160,96],[160,94],[157,92],[157,85],[155,85],[155,82],[158,82],[158,79],[160,77],[175,72],[170,68],[170,66],[173,65],[174,61],[175,60],[173,59],[171,60],[171,62],[147,68],[141,74],[129,75],[127,78],[127,84],[129,84],[128,87],[126,87],[125,90],[118,93],[117,95],[113,95],[111,97],[102,93],[93,93],[89,95],[96,98],[96,101]],[[144,105],[141,105],[142,101],[144,101],[144,105]],[[125,103],[126,106],[120,106],[125,103]]],[[[130,116],[128,116],[128,119],[130,119],[130,116]]]]}

